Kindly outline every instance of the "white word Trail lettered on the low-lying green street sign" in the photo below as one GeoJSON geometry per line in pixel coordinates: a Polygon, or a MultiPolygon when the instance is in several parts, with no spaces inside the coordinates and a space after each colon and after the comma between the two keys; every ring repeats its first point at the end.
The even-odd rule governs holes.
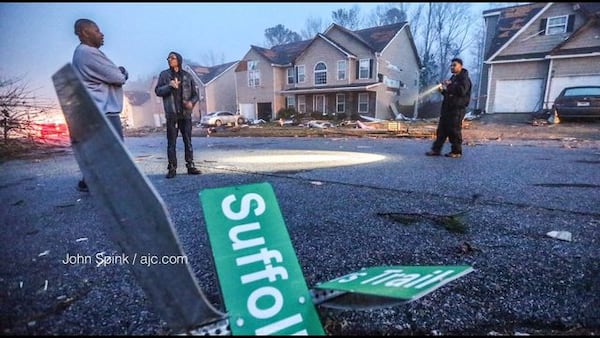
{"type": "MultiPolygon", "coordinates": [[[[403,273],[402,269],[397,270],[385,270],[382,274],[371,277],[361,282],[361,284],[371,284],[378,285],[385,282],[385,286],[389,287],[405,287],[411,288],[415,287],[415,289],[420,289],[424,286],[427,286],[431,283],[441,281],[446,276],[451,275],[454,270],[448,270],[442,273],[442,270],[435,270],[434,272],[427,274],[425,276],[421,276],[418,273],[403,273]]],[[[354,278],[356,279],[356,278],[354,278]]]]}

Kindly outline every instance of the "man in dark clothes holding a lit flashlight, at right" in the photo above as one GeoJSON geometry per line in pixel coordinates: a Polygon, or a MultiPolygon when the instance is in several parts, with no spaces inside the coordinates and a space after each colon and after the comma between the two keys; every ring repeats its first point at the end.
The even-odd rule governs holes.
{"type": "Polygon", "coordinates": [[[428,156],[441,155],[446,138],[451,144],[451,150],[446,156],[452,158],[462,156],[462,120],[471,101],[472,84],[469,72],[463,68],[461,59],[452,59],[450,67],[452,77],[440,83],[439,86],[444,101],[436,131],[437,136],[431,150],[426,153],[428,156]]]}

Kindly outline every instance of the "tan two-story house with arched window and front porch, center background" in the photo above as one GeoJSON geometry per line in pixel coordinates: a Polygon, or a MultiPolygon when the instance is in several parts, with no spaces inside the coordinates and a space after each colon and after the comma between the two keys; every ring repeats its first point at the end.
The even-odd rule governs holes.
{"type": "Polygon", "coordinates": [[[351,31],[332,24],[310,40],[251,46],[236,68],[239,109],[381,119],[416,111],[420,59],[406,22],[351,31]],[[402,111],[404,109],[404,111],[402,111]]]}

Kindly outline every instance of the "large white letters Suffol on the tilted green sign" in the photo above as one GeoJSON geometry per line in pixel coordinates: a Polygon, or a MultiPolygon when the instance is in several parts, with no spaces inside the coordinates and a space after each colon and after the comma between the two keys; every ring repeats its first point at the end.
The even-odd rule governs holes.
{"type": "MultiPolygon", "coordinates": [[[[265,200],[256,193],[245,194],[240,202],[239,211],[235,212],[232,210],[232,204],[236,201],[236,197],[232,195],[226,196],[221,202],[221,210],[225,217],[234,221],[244,220],[253,211],[255,216],[260,216],[266,211],[265,200]],[[257,206],[252,210],[252,202],[256,202],[257,206]]],[[[252,222],[247,224],[240,224],[232,227],[229,232],[229,239],[231,240],[231,247],[233,251],[242,249],[254,248],[262,246],[266,243],[263,236],[255,234],[254,237],[249,235],[250,232],[256,232],[261,230],[260,222],[252,222]]],[[[282,265],[274,266],[273,262],[283,263],[283,256],[278,250],[271,250],[267,247],[262,247],[258,252],[238,257],[235,259],[236,266],[244,266],[254,263],[262,263],[260,268],[257,267],[255,272],[245,274],[240,277],[242,284],[250,284],[256,281],[267,279],[270,283],[277,281],[278,279],[288,279],[288,272],[282,265]],[[279,277],[279,278],[278,278],[279,277]]],[[[262,301],[261,304],[265,304],[262,301]]],[[[278,315],[283,309],[284,297],[279,289],[272,286],[261,286],[250,293],[246,300],[246,307],[248,313],[257,319],[269,319],[278,315]],[[260,308],[258,302],[260,299],[272,300],[272,304],[265,308],[260,308]]],[[[302,315],[297,313],[287,318],[278,320],[274,323],[267,324],[255,330],[257,335],[269,335],[274,334],[280,330],[291,327],[292,325],[301,324],[303,322],[302,315]]],[[[294,335],[308,335],[306,329],[300,330],[294,335]]]]}

